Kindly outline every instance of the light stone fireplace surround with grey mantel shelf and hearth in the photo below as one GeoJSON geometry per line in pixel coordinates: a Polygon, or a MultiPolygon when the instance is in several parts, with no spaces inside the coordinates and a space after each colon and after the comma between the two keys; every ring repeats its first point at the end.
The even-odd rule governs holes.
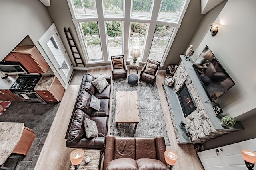
{"type": "Polygon", "coordinates": [[[212,106],[214,106],[215,103],[210,102],[206,92],[204,91],[204,88],[192,67],[193,62],[186,61],[184,55],[180,55],[180,57],[182,62],[174,74],[175,82],[173,86],[170,87],[166,86],[165,83],[163,84],[178,143],[204,143],[226,133],[232,133],[239,129],[244,129],[240,122],[237,122],[234,127],[223,127],[220,125],[221,115],[218,117],[215,116],[214,111],[212,110],[212,106]],[[185,82],[188,83],[188,89],[190,90],[190,93],[198,107],[186,118],[184,117],[176,94],[185,82]],[[180,128],[178,126],[182,120],[185,120],[187,123],[188,126],[186,128],[180,128]],[[182,134],[186,130],[194,133],[193,137],[183,137],[182,134]]]}

